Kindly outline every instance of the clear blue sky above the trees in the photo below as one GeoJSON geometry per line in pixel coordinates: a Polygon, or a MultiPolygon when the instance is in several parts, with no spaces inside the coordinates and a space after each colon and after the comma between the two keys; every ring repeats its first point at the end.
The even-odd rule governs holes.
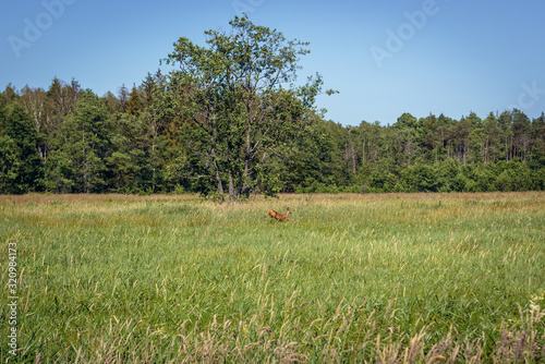
{"type": "Polygon", "coordinates": [[[317,106],[343,125],[545,111],[543,0],[2,1],[0,89],[58,76],[117,94],[155,73],[179,37],[204,45],[205,29],[229,31],[241,11],[311,43],[300,80],[319,72],[340,92],[317,106]]]}

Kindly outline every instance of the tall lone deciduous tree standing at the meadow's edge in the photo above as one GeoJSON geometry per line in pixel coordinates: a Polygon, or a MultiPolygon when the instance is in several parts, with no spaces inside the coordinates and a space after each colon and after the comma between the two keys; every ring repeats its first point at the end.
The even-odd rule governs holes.
{"type": "MultiPolygon", "coordinates": [[[[207,31],[207,46],[180,38],[165,59],[168,74],[166,113],[186,120],[195,133],[187,141],[199,156],[201,173],[229,198],[270,187],[268,158],[282,156],[290,138],[312,119],[320,93],[317,74],[294,86],[299,57],[307,43],[254,25],[247,16],[230,22],[231,33],[207,31]]],[[[332,92],[328,92],[331,94],[332,92]]]]}

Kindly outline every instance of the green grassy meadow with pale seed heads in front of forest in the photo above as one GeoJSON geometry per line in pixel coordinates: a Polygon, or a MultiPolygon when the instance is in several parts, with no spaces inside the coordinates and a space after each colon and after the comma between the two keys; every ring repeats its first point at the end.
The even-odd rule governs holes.
{"type": "Polygon", "coordinates": [[[0,244],[1,363],[545,361],[545,193],[0,196],[0,244]]]}

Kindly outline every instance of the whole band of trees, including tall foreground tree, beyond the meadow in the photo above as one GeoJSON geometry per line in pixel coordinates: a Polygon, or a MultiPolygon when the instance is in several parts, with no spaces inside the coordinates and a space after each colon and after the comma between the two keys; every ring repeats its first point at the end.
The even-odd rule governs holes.
{"type": "MultiPolygon", "coordinates": [[[[308,44],[253,24],[181,37],[140,85],[76,80],[0,93],[0,193],[278,193],[545,190],[545,114],[518,109],[391,124],[327,120],[308,44]]],[[[159,54],[160,56],[160,54],[159,54]]],[[[334,83],[334,82],[332,82],[334,83]]],[[[364,113],[365,110],[362,110],[364,113]]]]}

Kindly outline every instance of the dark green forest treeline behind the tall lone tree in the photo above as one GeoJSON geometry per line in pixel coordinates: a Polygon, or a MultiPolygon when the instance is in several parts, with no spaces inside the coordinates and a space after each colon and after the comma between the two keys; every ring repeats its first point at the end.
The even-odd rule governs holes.
{"type": "MultiPolygon", "coordinates": [[[[0,109],[0,191],[217,194],[210,134],[190,114],[165,112],[171,96],[160,87],[152,92],[150,82],[159,84],[160,78],[148,76],[148,94],[138,96],[143,100],[142,95],[149,95],[146,102],[126,112],[112,107],[119,101],[111,93],[100,98],[90,90],[78,92],[73,106],[57,106],[59,111],[51,112],[39,133],[28,113],[32,110],[25,111],[16,101],[32,90],[11,97],[8,108],[0,109]],[[64,116],[65,109],[72,111],[64,116]]],[[[56,85],[53,81],[53,92],[56,85]]],[[[136,88],[133,98],[134,93],[136,88]]],[[[292,104],[296,98],[274,97],[277,106],[291,105],[270,114],[278,122],[267,130],[268,142],[274,143],[249,163],[252,179],[246,186],[254,192],[274,196],[279,192],[545,189],[543,116],[530,121],[513,110],[499,117],[491,113],[484,120],[471,113],[456,121],[444,116],[416,120],[405,113],[391,126],[366,122],[342,126],[310,112],[304,123],[284,128],[302,111],[292,104]]],[[[51,109],[58,99],[46,98],[51,109]]],[[[240,125],[226,125],[230,126],[215,131],[221,141],[216,153],[225,192],[229,171],[234,190],[244,185],[245,146],[240,125]],[[234,150],[240,150],[241,159],[233,159],[234,150]]],[[[264,135],[256,134],[251,142],[259,137],[264,135]]]]}

